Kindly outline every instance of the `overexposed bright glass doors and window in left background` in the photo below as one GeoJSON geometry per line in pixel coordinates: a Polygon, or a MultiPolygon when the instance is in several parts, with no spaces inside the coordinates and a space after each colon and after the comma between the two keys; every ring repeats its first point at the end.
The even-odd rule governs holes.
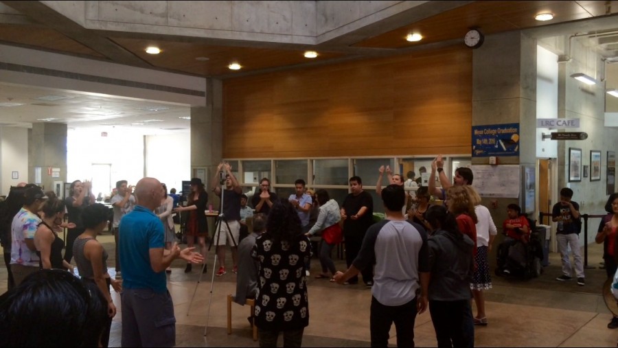
{"type": "MultiPolygon", "coordinates": [[[[91,180],[93,163],[111,163],[112,188],[119,180],[135,185],[144,177],[144,136],[131,132],[71,130],[67,135],[67,182],[91,180]]],[[[95,196],[102,190],[95,188],[95,196]]],[[[106,192],[103,191],[105,194],[106,192]]]]}

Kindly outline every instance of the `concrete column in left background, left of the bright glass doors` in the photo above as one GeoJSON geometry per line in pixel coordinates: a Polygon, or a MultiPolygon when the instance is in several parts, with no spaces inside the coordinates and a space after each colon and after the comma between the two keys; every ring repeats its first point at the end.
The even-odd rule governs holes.
{"type": "MultiPolygon", "coordinates": [[[[67,181],[67,124],[35,123],[28,137],[28,183],[34,183],[36,167],[41,167],[41,185],[54,189],[54,181],[67,181]],[[52,177],[48,168],[60,168],[60,176],[52,177]]],[[[61,192],[61,194],[63,194],[61,192]]]]}

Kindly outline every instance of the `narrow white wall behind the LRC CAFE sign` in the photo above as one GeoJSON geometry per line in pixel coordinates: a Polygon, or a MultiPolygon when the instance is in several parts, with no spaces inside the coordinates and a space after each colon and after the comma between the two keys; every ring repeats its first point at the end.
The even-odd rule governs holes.
{"type": "MultiPolygon", "coordinates": [[[[558,118],[558,55],[548,49],[536,47],[536,118],[558,118]]],[[[558,142],[542,140],[543,133],[556,132],[556,129],[536,128],[536,156],[556,158],[558,142]]]]}

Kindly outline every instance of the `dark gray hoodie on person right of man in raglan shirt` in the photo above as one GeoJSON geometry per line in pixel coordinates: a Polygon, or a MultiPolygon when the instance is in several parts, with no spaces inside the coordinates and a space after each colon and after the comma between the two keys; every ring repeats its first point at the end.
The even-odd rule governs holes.
{"type": "Polygon", "coordinates": [[[436,231],[428,238],[428,246],[431,272],[428,298],[433,301],[469,300],[474,276],[474,242],[463,233],[436,231]]]}

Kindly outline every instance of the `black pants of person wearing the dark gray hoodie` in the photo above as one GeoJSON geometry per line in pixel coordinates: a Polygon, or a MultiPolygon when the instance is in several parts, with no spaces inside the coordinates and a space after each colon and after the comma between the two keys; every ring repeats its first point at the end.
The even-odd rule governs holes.
{"type": "Polygon", "coordinates": [[[470,300],[429,301],[438,347],[474,347],[470,300]]]}

